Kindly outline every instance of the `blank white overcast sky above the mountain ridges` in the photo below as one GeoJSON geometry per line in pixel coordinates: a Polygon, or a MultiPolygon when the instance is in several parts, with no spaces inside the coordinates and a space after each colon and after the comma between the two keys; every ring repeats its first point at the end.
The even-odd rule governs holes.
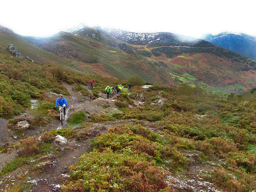
{"type": "Polygon", "coordinates": [[[4,0],[0,25],[49,36],[79,24],[192,37],[223,31],[256,36],[253,0],[4,0]]]}

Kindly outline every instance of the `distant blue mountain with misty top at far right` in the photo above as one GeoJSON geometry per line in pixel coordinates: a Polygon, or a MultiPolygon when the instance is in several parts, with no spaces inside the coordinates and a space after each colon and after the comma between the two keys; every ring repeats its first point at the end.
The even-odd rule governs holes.
{"type": "Polygon", "coordinates": [[[244,33],[206,34],[202,39],[256,60],[256,37],[244,33]]]}

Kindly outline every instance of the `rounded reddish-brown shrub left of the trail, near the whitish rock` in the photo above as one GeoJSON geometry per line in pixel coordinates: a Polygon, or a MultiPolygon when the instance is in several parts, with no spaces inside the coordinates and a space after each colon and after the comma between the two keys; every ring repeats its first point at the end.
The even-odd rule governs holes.
{"type": "Polygon", "coordinates": [[[37,154],[39,152],[39,141],[35,136],[28,137],[26,139],[20,140],[16,145],[18,156],[30,156],[37,154]]]}

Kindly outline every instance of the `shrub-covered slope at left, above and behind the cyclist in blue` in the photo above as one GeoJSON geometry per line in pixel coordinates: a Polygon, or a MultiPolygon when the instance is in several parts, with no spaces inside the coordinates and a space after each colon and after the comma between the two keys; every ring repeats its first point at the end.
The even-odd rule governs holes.
{"type": "MultiPolygon", "coordinates": [[[[52,64],[36,64],[0,50],[0,116],[18,115],[31,99],[47,100],[44,93],[69,95],[62,82],[84,84],[90,78],[107,84],[110,78],[86,76],[52,64]]],[[[112,81],[114,81],[112,79],[112,81]]]]}

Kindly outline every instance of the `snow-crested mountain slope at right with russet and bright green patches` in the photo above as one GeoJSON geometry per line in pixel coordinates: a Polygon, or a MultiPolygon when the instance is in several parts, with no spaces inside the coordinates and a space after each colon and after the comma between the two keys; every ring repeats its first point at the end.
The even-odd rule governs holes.
{"type": "Polygon", "coordinates": [[[228,92],[242,92],[256,85],[256,62],[204,40],[172,33],[101,28],[99,31],[128,42],[137,54],[167,66],[175,82],[212,86],[228,92]]]}

